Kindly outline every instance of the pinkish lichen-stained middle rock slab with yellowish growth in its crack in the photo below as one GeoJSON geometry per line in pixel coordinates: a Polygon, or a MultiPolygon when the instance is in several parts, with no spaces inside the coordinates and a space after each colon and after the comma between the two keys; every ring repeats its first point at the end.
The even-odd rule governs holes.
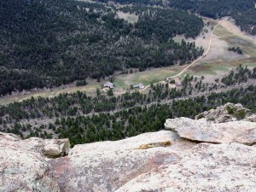
{"type": "Polygon", "coordinates": [[[117,142],[76,145],[67,157],[50,163],[62,191],[115,191],[134,177],[178,160],[168,149],[175,143],[193,145],[180,141],[172,131],[159,131],[117,142]],[[140,149],[148,143],[150,148],[140,149]]]}

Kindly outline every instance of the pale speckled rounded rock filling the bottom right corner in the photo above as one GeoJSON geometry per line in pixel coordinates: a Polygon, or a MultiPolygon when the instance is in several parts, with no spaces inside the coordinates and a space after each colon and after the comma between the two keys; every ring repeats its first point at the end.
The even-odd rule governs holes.
{"type": "MultiPolygon", "coordinates": [[[[116,192],[255,191],[256,148],[232,143],[200,143],[186,154],[131,179],[116,192]]],[[[170,155],[171,155],[170,154],[170,155]]]]}

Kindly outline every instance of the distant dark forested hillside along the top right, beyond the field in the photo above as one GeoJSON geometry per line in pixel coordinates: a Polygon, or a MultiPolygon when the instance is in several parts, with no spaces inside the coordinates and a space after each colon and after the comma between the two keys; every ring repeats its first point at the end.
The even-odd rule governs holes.
{"type": "MultiPolygon", "coordinates": [[[[107,3],[108,0],[98,0],[107,3]]],[[[115,3],[135,5],[159,5],[175,9],[189,10],[214,19],[231,16],[241,30],[256,34],[255,0],[113,0],[115,3]]]]}

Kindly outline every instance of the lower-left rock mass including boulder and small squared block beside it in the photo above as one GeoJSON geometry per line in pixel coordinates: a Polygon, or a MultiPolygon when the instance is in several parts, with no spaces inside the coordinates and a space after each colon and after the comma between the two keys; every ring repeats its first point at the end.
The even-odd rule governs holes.
{"type": "Polygon", "coordinates": [[[46,157],[67,154],[68,139],[44,140],[0,133],[0,191],[60,191],[46,157]]]}

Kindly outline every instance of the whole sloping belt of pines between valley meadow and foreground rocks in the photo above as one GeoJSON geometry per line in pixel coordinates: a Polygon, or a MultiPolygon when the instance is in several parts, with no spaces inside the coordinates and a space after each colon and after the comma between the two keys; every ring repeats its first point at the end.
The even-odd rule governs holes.
{"type": "Polygon", "coordinates": [[[53,98],[32,97],[0,106],[0,131],[21,137],[68,137],[72,144],[90,143],[158,131],[167,118],[194,118],[226,102],[241,103],[256,112],[256,86],[236,88],[256,79],[256,67],[237,67],[221,79],[223,84],[216,84],[219,79],[212,84],[203,79],[187,75],[177,89],[169,83],[151,84],[147,94],[135,91],[112,96],[97,91],[92,97],[78,91],[53,98]],[[235,84],[236,89],[219,91],[235,84]]]}

